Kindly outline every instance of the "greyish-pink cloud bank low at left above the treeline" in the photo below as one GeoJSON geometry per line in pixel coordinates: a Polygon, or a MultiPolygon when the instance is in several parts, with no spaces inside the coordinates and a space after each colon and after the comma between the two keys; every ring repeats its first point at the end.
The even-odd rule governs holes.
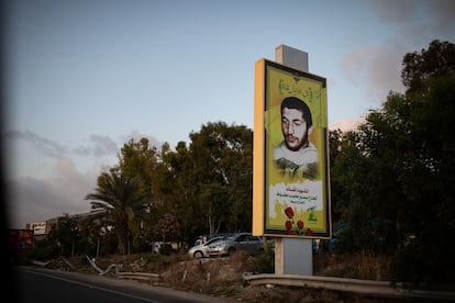
{"type": "MultiPolygon", "coordinates": [[[[90,201],[85,200],[85,197],[93,192],[100,171],[106,170],[120,153],[120,143],[115,143],[109,136],[95,134],[90,136],[88,144],[78,148],[65,147],[30,131],[10,131],[4,133],[4,137],[31,143],[30,152],[33,156],[30,158],[37,162],[37,166],[48,162],[45,157],[53,158],[48,162],[47,173],[41,177],[34,176],[36,171],[31,171],[33,167],[37,167],[35,165],[26,166],[29,171],[22,176],[11,175],[5,178],[10,228],[25,228],[27,223],[47,221],[64,213],[78,214],[90,211],[90,201]]],[[[153,136],[137,131],[124,136],[123,143],[130,138],[138,142],[142,137],[148,138],[151,145],[160,146],[153,136]]],[[[14,161],[22,162],[21,159],[14,161]]]]}

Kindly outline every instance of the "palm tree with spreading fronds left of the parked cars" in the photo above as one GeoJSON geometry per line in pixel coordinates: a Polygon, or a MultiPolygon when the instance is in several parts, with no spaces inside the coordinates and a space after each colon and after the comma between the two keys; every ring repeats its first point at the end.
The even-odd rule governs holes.
{"type": "Polygon", "coordinates": [[[97,180],[93,193],[86,195],[91,209],[106,209],[112,215],[120,254],[126,255],[130,248],[130,221],[143,206],[146,194],[140,193],[140,179],[124,176],[120,169],[102,172],[97,180]]]}

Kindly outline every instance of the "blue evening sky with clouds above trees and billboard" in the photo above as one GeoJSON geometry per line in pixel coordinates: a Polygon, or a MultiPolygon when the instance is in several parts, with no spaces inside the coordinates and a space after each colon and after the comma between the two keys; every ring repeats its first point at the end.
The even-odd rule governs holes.
{"type": "Polygon", "coordinates": [[[455,43],[452,0],[10,0],[2,154],[8,227],[90,211],[124,143],[253,130],[254,67],[279,45],[328,80],[330,128],[403,92],[402,58],[455,43]]]}

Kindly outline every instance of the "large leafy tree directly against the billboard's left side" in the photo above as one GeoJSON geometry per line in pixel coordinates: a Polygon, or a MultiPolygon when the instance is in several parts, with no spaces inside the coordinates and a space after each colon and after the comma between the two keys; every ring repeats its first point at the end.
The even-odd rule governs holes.
{"type": "Polygon", "coordinates": [[[245,126],[208,123],[190,134],[193,184],[211,236],[252,226],[252,141],[245,126]]]}

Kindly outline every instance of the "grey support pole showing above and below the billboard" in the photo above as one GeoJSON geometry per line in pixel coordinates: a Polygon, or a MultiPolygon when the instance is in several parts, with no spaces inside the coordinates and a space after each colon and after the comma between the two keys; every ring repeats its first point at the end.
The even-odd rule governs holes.
{"type": "MultiPolygon", "coordinates": [[[[308,70],[308,53],[279,45],[275,48],[278,64],[308,70]]],[[[275,274],[313,276],[312,239],[281,238],[275,239],[275,274]]]]}

